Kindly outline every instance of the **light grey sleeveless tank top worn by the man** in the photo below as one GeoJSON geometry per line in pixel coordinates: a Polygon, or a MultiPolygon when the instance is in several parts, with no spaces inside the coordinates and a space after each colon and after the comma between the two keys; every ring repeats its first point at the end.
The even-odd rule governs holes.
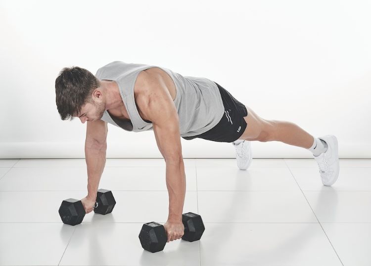
{"type": "Polygon", "coordinates": [[[99,80],[115,81],[129,114],[130,121],[118,121],[104,111],[101,120],[126,131],[153,130],[152,123],[143,120],[134,100],[134,85],[140,71],[158,67],[174,81],[175,107],[178,111],[181,136],[194,136],[212,129],[224,115],[224,105],[217,85],[206,78],[187,77],[170,69],[121,61],[111,62],[99,68],[95,77],[99,80]]]}

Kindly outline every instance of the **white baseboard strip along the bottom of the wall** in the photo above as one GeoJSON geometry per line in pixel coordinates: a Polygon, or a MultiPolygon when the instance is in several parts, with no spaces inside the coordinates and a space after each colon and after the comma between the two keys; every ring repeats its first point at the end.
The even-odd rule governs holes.
{"type": "MultiPolygon", "coordinates": [[[[253,158],[313,158],[282,142],[251,142],[253,158]]],[[[182,139],[183,158],[235,158],[231,143],[182,139]]],[[[107,143],[107,158],[162,158],[153,140],[107,143]]],[[[85,158],[82,142],[0,142],[1,159],[85,158]]],[[[371,158],[371,143],[339,143],[339,158],[371,158]]]]}

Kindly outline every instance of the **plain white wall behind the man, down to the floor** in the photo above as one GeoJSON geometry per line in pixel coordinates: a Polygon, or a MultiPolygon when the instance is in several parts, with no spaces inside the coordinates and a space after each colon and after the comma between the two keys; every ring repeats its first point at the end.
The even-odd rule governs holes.
{"type": "MultiPolygon", "coordinates": [[[[61,121],[63,67],[114,60],[206,77],[265,119],[334,134],[341,158],[371,158],[368,0],[0,1],[0,158],[84,158],[86,125],[61,121]]],[[[184,140],[184,158],[232,158],[184,140]]],[[[254,158],[311,158],[253,142],[254,158]]],[[[161,157],[153,132],[109,126],[107,157],[161,157]]]]}

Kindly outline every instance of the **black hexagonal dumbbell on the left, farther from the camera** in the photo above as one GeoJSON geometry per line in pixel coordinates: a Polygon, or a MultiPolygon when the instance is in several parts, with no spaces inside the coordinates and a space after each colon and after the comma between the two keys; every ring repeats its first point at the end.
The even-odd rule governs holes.
{"type": "MultiPolygon", "coordinates": [[[[106,215],[112,212],[116,201],[111,190],[98,189],[94,205],[94,213],[106,215]]],[[[62,222],[69,225],[76,225],[83,222],[86,214],[83,203],[77,199],[66,199],[59,207],[59,216],[62,222]]]]}

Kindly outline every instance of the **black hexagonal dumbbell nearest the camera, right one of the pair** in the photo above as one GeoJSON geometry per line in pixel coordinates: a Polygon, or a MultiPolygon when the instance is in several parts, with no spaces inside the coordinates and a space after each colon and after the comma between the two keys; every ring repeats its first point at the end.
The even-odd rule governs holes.
{"type": "MultiPolygon", "coordinates": [[[[203,231],[205,231],[201,216],[194,213],[185,213],[182,215],[182,222],[184,224],[182,239],[189,242],[200,240],[203,231]]],[[[155,253],[164,249],[168,237],[162,224],[147,222],[141,227],[139,240],[143,249],[155,253]]]]}

